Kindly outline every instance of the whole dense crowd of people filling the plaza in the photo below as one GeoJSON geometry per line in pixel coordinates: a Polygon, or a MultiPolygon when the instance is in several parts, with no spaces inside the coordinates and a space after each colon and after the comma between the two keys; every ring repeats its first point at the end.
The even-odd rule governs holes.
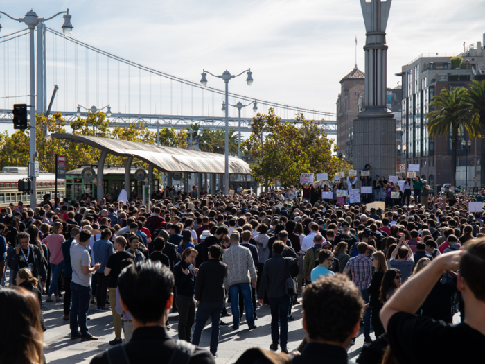
{"type": "Polygon", "coordinates": [[[485,219],[467,202],[482,193],[425,195],[418,182],[406,182],[412,198],[405,188],[405,202],[385,209],[324,200],[326,185],[302,186],[301,199],[294,187],[261,196],[168,189],[149,205],[53,205],[46,196],[34,209],[3,208],[0,325],[9,329],[0,331],[0,363],[45,362],[42,310],[62,300],[72,340],[98,340],[89,311],[111,311],[112,347],[94,364],[215,363],[220,326],[231,326],[224,318],[233,330],[257,330],[265,305],[272,344],[238,363],[346,363],[361,331],[358,363],[473,358],[485,340],[485,219]],[[299,304],[305,335],[289,348],[299,304]],[[168,335],[170,312],[179,340],[168,335]],[[443,347],[451,339],[460,350],[443,347]]]}

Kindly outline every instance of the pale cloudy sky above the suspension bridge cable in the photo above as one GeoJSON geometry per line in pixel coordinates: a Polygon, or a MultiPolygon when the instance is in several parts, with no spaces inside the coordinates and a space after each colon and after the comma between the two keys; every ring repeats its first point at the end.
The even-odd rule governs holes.
{"type": "MultiPolygon", "coordinates": [[[[231,92],[298,107],[335,112],[339,81],[355,65],[355,37],[357,64],[364,69],[358,0],[18,0],[3,1],[0,10],[23,17],[30,8],[40,17],[69,8],[72,37],[195,82],[202,69],[220,74],[251,67],[252,87],[236,78],[229,83],[231,92]]],[[[484,14],[484,0],[394,0],[387,26],[387,87],[395,87],[400,78],[394,73],[421,53],[459,53],[464,42],[482,40],[484,14]]],[[[24,27],[4,15],[0,24],[0,35],[24,27]]],[[[62,17],[48,26],[61,31],[62,17]]],[[[224,87],[210,77],[209,85],[224,87]]],[[[72,108],[76,102],[64,95],[72,108]]]]}

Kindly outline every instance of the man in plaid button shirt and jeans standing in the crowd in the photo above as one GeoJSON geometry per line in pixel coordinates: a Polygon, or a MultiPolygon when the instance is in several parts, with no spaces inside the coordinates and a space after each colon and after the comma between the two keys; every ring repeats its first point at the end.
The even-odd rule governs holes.
{"type": "MultiPolygon", "coordinates": [[[[371,229],[364,229],[362,232],[361,243],[357,245],[359,255],[349,259],[344,269],[344,275],[352,272],[352,281],[362,293],[364,302],[369,302],[369,292],[367,288],[372,280],[372,259],[368,257],[369,249],[376,252],[376,248],[368,245],[367,242],[372,237],[371,229]]],[[[364,313],[364,343],[372,343],[371,339],[371,309],[367,308],[364,313]]]]}

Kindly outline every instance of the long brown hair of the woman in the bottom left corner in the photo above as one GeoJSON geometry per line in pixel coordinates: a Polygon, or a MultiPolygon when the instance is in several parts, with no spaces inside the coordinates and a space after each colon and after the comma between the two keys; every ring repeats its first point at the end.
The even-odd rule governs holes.
{"type": "Polygon", "coordinates": [[[37,297],[19,286],[1,289],[0,312],[0,363],[44,364],[37,297]]]}

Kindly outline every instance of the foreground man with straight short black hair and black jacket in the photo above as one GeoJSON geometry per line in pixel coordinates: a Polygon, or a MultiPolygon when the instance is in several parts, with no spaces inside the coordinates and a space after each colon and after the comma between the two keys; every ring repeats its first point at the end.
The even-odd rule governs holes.
{"type": "Polygon", "coordinates": [[[191,353],[187,354],[191,357],[190,362],[182,354],[182,357],[178,356],[177,363],[215,364],[209,352],[182,340],[177,344],[164,327],[173,303],[174,278],[170,269],[158,261],[131,264],[123,269],[118,284],[120,304],[132,315],[133,336],[129,343],[98,354],[91,359],[91,364],[112,363],[109,358],[118,355],[125,356],[130,363],[166,363],[174,351],[179,355],[183,351],[191,353]]]}

